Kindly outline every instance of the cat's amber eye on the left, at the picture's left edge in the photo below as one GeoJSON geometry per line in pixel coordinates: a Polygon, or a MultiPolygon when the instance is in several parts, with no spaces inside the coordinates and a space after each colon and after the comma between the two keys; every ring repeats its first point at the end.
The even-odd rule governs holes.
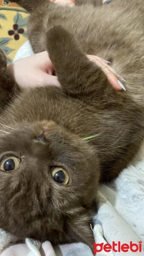
{"type": "Polygon", "coordinates": [[[0,170],[3,172],[13,172],[19,167],[19,165],[20,158],[15,156],[7,156],[0,161],[0,170]]]}

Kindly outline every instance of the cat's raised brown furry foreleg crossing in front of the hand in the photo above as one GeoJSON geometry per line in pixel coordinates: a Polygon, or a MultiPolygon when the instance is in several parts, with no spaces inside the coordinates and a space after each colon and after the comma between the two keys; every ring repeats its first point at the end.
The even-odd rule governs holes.
{"type": "Polygon", "coordinates": [[[84,96],[95,92],[96,86],[104,87],[107,81],[104,72],[89,61],[74,36],[62,26],[54,26],[47,32],[46,49],[66,93],[84,96]]]}

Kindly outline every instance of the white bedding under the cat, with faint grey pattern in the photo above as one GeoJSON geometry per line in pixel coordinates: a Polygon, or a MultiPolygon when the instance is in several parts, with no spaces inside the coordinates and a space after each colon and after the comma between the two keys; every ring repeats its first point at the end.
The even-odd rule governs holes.
{"type": "MultiPolygon", "coordinates": [[[[32,48],[27,41],[18,50],[14,60],[32,54],[32,48]]],[[[97,204],[98,213],[94,217],[93,229],[95,242],[112,245],[112,241],[115,243],[120,241],[121,244],[130,244],[132,241],[138,246],[142,245],[142,251],[135,252],[135,256],[144,256],[144,146],[135,161],[115,181],[100,187],[97,204]],[[142,241],[142,244],[139,244],[139,241],[142,241]]],[[[13,241],[13,237],[3,231],[0,232],[1,256],[92,256],[89,247],[82,243],[58,245],[52,248],[49,242],[43,243],[41,247],[39,242],[26,239],[26,244],[17,246],[9,244],[11,240],[13,241]]],[[[96,255],[133,256],[133,254],[130,250],[127,253],[102,250],[96,255]]]]}

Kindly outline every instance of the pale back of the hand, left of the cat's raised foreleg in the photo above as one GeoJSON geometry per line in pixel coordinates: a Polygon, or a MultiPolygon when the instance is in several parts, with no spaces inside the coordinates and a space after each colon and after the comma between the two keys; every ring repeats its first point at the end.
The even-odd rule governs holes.
{"type": "Polygon", "coordinates": [[[49,54],[40,52],[21,58],[8,66],[8,72],[23,89],[55,85],[60,87],[49,54]]]}

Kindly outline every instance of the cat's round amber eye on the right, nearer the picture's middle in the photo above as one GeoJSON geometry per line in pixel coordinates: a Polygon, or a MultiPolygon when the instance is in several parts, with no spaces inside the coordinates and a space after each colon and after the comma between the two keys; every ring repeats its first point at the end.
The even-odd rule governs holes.
{"type": "Polygon", "coordinates": [[[62,167],[55,167],[52,169],[52,178],[55,182],[61,185],[69,183],[69,173],[62,167]]]}

